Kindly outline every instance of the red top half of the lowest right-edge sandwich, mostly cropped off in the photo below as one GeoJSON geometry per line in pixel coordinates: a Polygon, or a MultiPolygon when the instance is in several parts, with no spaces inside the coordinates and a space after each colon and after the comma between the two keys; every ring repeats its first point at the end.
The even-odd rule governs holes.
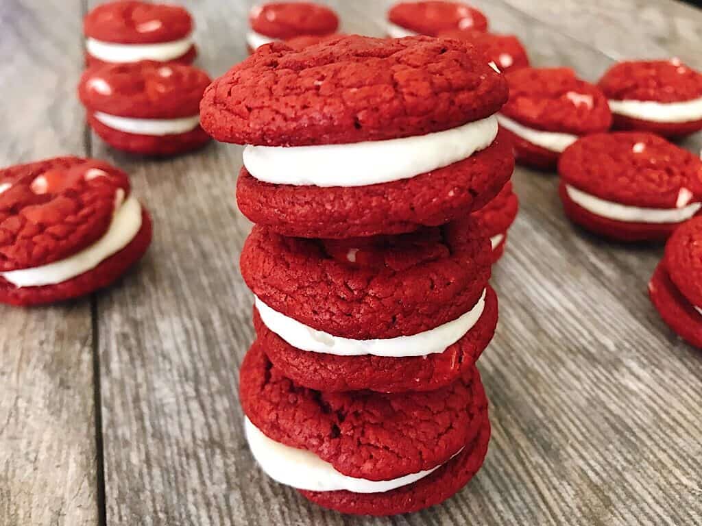
{"type": "Polygon", "coordinates": [[[665,245],[665,269],[693,306],[702,307],[702,217],[677,227],[665,245]]]}

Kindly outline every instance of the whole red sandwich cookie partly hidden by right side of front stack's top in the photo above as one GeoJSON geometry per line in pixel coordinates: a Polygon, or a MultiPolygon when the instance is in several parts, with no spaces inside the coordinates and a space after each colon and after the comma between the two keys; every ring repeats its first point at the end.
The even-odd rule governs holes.
{"type": "Polygon", "coordinates": [[[555,168],[579,136],[609,130],[607,98],[567,68],[522,68],[506,75],[510,100],[498,115],[515,144],[517,162],[555,168]]]}

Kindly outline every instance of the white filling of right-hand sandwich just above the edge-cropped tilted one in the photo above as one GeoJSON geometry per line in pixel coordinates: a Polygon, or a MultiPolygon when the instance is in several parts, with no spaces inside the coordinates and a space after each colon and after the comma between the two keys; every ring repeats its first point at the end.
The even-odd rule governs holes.
{"type": "Polygon", "coordinates": [[[607,219],[635,223],[680,223],[689,220],[702,207],[702,203],[691,203],[681,208],[640,208],[604,201],[586,194],[582,190],[566,185],[569,198],[588,212],[607,219]]]}

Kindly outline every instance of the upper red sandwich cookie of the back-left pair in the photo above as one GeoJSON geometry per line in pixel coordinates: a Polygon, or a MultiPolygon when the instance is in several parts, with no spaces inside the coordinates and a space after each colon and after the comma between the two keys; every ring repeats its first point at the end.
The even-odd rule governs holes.
{"type": "Polygon", "coordinates": [[[197,55],[192,18],[182,7],[121,0],[86,15],[89,66],[154,60],[190,64],[197,55]]]}

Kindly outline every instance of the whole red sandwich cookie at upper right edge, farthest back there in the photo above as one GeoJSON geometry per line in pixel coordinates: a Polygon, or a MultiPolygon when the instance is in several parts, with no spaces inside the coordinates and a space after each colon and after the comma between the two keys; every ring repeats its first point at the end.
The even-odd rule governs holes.
{"type": "Polygon", "coordinates": [[[614,127],[678,137],[702,130],[702,74],[679,59],[619,62],[599,83],[614,127]]]}

